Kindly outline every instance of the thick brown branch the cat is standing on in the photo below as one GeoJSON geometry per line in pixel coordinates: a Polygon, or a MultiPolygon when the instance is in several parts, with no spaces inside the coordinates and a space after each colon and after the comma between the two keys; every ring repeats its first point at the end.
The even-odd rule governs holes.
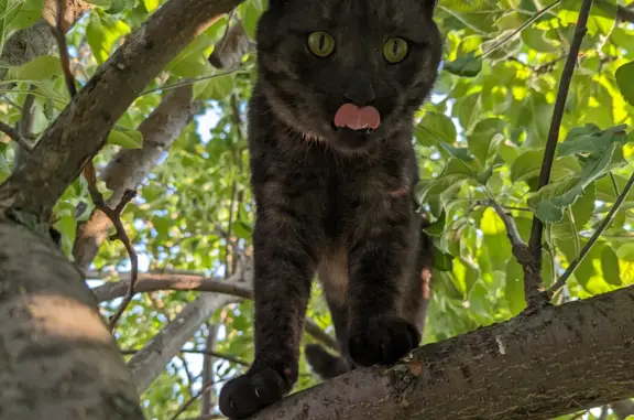
{"type": "Polygon", "coordinates": [[[417,348],[252,420],[540,420],[634,395],[634,286],[417,348]]]}

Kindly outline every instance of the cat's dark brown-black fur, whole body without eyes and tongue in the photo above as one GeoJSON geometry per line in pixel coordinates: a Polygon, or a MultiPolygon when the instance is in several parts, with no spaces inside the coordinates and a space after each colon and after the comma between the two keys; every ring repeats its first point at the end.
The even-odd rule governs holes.
{"type": "Polygon", "coordinates": [[[255,358],[227,383],[220,410],[248,417],[287,394],[313,277],[327,295],[346,358],[307,348],[324,377],[392,364],[420,341],[429,265],[415,213],[414,112],[441,56],[434,0],[270,0],[258,25],[258,82],[249,107],[255,358]],[[334,53],[307,47],[327,31],[334,53]],[[391,64],[384,42],[409,40],[391,64]],[[345,103],[381,115],[370,133],[337,130],[345,103]]]}

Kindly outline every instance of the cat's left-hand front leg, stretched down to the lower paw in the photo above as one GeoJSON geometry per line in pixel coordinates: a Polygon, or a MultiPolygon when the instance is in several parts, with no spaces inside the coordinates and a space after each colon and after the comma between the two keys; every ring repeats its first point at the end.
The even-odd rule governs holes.
{"type": "Polygon", "coordinates": [[[225,416],[249,417],[281,400],[297,380],[317,240],[292,212],[259,212],[253,231],[255,357],[245,375],[222,388],[225,416]]]}

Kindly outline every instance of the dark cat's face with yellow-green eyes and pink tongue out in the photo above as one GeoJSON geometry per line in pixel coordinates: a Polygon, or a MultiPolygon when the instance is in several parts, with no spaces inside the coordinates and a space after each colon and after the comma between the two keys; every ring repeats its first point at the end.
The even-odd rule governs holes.
{"type": "Polygon", "coordinates": [[[260,82],[276,116],[342,152],[412,123],[441,56],[434,0],[270,0],[260,82]]]}

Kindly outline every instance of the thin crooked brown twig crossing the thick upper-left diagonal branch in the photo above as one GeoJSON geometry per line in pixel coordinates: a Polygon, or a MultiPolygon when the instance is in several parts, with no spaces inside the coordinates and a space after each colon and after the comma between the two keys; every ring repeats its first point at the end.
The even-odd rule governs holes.
{"type": "MultiPolygon", "coordinates": [[[[70,58],[68,57],[68,47],[66,46],[66,34],[64,31],[64,0],[57,0],[56,30],[54,32],[55,36],[57,37],[57,49],[59,50],[59,57],[62,61],[62,69],[64,72],[66,87],[68,88],[70,98],[74,98],[77,95],[77,88],[75,87],[75,77],[70,72],[70,58]]],[[[131,281],[128,292],[125,293],[125,297],[123,297],[123,301],[119,305],[119,309],[117,309],[117,312],[114,312],[114,314],[110,317],[110,330],[113,330],[114,325],[117,325],[117,322],[130,304],[130,301],[132,301],[132,297],[134,295],[134,286],[136,284],[136,279],[139,276],[139,257],[136,256],[136,251],[130,243],[130,238],[128,237],[125,228],[123,227],[123,223],[121,222],[121,212],[123,212],[125,205],[136,196],[136,192],[133,190],[125,190],[123,196],[121,197],[121,202],[114,208],[110,208],[106,204],[103,195],[97,187],[96,172],[97,171],[95,170],[95,164],[92,163],[92,160],[89,159],[84,166],[84,177],[86,177],[86,181],[88,181],[88,191],[90,192],[92,203],[99,211],[103,212],[103,214],[108,216],[110,222],[112,222],[112,225],[116,228],[116,234],[110,237],[110,240],[119,239],[121,243],[123,243],[123,246],[130,256],[130,265],[132,266],[131,281]]]]}

